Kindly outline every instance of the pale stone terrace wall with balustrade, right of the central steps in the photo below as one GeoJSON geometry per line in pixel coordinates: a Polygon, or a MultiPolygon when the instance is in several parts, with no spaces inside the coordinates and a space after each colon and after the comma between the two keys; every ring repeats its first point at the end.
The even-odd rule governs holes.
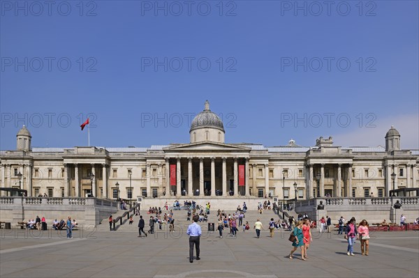
{"type": "Polygon", "coordinates": [[[298,201],[295,204],[295,212],[307,213],[314,220],[328,215],[332,218],[332,224],[337,224],[341,216],[346,220],[355,217],[357,222],[366,219],[370,224],[381,223],[383,219],[399,223],[402,214],[406,217],[406,222],[413,222],[419,217],[419,197],[315,198],[298,201]],[[324,210],[317,209],[321,201],[324,210]],[[393,208],[396,201],[402,204],[401,208],[393,208]]]}

